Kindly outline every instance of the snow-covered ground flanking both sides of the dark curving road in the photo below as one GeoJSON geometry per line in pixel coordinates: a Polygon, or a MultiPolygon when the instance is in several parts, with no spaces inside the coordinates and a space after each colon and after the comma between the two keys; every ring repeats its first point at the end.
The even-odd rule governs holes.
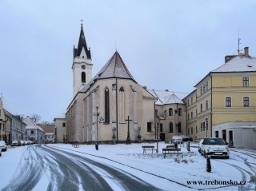
{"type": "MultiPolygon", "coordinates": [[[[80,145],[74,148],[70,144],[46,145],[52,149],[64,149],[84,157],[109,163],[115,166],[124,166],[127,170],[139,169],[140,172],[153,174],[165,181],[174,183],[174,187],[164,187],[166,190],[249,190],[255,189],[256,182],[256,152],[254,150],[231,149],[230,159],[211,159],[211,173],[206,172],[206,159],[198,153],[196,144],[191,144],[190,152],[186,146],[182,148],[182,156],[162,155],[162,148],[166,148],[164,142],[160,142],[159,153],[142,153],[142,145],[154,145],[157,143],[99,145],[96,150],[94,145],[80,145]],[[194,181],[194,183],[192,182],[194,181]],[[196,182],[195,182],[196,181],[196,182]],[[202,183],[199,183],[202,181],[202,183]],[[236,185],[244,181],[245,185],[236,185]],[[201,185],[199,185],[201,184],[201,185]],[[234,184],[234,185],[232,185],[234,184]]],[[[10,183],[11,177],[18,170],[22,153],[26,146],[9,147],[7,152],[2,152],[0,157],[0,189],[10,183]]],[[[33,146],[33,145],[29,145],[33,146]]],[[[141,177],[143,179],[143,177],[141,177]]],[[[150,182],[159,187],[160,182],[150,182]]],[[[161,187],[161,188],[162,188],[161,187]]],[[[34,190],[39,190],[38,186],[34,190]]]]}

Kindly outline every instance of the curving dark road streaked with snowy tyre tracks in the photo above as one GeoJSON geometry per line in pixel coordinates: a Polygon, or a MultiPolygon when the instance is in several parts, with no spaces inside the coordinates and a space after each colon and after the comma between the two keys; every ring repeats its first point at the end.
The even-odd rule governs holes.
{"type": "Polygon", "coordinates": [[[28,146],[19,167],[2,190],[159,190],[122,169],[42,145],[28,146]]]}

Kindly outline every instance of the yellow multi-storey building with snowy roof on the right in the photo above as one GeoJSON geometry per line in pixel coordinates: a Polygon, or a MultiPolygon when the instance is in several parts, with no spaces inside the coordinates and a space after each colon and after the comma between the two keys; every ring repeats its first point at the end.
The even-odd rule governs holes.
{"type": "Polygon", "coordinates": [[[226,56],[225,64],[202,78],[184,98],[188,135],[199,141],[222,137],[230,145],[256,149],[256,58],[226,56]]]}

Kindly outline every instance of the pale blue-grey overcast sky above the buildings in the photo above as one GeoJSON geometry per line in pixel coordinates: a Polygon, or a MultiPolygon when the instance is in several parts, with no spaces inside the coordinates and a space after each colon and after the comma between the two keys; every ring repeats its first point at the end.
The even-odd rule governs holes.
{"type": "Polygon", "coordinates": [[[250,0],[1,0],[3,106],[50,122],[66,112],[81,19],[93,76],[117,49],[140,85],[186,96],[238,54],[238,35],[240,49],[256,56],[255,7],[250,0]]]}

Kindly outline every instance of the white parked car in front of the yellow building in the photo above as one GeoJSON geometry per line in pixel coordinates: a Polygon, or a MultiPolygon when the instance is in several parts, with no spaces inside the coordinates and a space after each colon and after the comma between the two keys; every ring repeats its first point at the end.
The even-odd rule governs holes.
{"type": "Polygon", "coordinates": [[[204,138],[200,149],[202,155],[230,158],[230,150],[222,138],[204,138]]]}

